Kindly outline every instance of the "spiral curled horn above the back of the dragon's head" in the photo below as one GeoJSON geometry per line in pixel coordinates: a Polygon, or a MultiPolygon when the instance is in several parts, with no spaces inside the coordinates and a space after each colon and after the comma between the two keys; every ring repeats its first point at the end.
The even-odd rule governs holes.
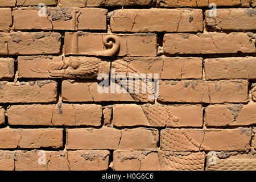
{"type": "Polygon", "coordinates": [[[103,44],[106,51],[103,52],[104,56],[114,56],[117,55],[119,49],[120,49],[120,41],[118,39],[118,36],[116,35],[106,35],[103,38],[103,44]]]}

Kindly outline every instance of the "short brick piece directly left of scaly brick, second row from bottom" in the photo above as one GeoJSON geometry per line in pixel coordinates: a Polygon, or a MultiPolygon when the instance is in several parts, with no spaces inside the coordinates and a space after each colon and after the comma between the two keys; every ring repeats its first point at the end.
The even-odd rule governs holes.
{"type": "Polygon", "coordinates": [[[122,150],[156,149],[158,140],[159,133],[156,129],[124,129],[121,130],[118,148],[122,150]]]}

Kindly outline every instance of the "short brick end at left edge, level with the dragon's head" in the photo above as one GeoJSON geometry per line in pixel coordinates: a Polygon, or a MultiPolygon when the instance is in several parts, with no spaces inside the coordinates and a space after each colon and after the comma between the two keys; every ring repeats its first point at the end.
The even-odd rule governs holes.
{"type": "Polygon", "coordinates": [[[0,78],[14,77],[14,59],[0,58],[0,78]]]}

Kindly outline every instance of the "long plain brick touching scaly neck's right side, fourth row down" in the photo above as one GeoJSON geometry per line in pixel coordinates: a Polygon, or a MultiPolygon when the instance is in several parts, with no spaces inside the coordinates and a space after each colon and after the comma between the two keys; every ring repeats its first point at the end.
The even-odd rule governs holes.
{"type": "Polygon", "coordinates": [[[159,81],[162,102],[247,102],[248,81],[159,81]]]}

